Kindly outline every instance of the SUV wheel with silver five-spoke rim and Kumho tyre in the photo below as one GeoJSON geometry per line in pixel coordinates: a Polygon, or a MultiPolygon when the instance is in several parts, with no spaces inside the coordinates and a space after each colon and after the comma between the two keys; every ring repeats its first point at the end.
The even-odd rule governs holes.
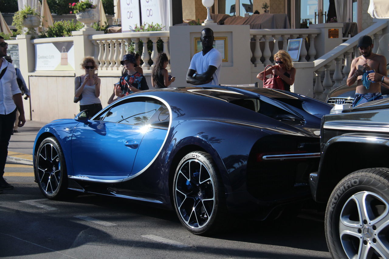
{"type": "Polygon", "coordinates": [[[389,258],[389,169],[343,178],[329,198],[325,232],[333,258],[389,258]]]}

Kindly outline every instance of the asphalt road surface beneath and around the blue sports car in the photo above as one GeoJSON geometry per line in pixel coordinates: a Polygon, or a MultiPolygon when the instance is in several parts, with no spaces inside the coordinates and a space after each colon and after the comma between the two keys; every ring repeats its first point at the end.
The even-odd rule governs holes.
{"type": "Polygon", "coordinates": [[[284,221],[239,219],[227,233],[204,237],[189,233],[175,212],[143,203],[95,195],[47,200],[32,166],[21,164],[31,157],[34,132],[11,138],[19,141],[10,144],[19,160],[9,159],[5,168],[15,189],[0,194],[0,257],[331,258],[324,214],[312,210],[284,221]]]}

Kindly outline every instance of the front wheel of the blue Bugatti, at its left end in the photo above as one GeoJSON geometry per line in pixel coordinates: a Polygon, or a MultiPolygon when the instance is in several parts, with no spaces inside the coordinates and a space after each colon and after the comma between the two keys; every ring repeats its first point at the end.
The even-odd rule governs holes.
{"type": "Polygon", "coordinates": [[[35,158],[35,179],[46,198],[62,198],[67,191],[65,157],[58,140],[46,138],[39,145],[35,158]]]}

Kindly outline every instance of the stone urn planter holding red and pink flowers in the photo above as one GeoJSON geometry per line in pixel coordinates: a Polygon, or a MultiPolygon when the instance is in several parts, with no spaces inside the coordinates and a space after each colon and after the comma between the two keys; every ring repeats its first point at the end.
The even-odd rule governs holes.
{"type": "Polygon", "coordinates": [[[96,9],[96,5],[93,5],[89,0],[81,1],[77,3],[69,3],[70,13],[75,14],[77,21],[84,23],[82,30],[93,30],[91,28],[92,23],[98,21],[99,16],[96,9]]]}

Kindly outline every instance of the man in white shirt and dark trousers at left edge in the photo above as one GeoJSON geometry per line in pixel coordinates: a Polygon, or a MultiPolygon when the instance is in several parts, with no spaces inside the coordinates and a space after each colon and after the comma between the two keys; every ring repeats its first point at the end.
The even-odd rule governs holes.
{"type": "Polygon", "coordinates": [[[16,108],[19,110],[19,127],[25,122],[22,94],[16,82],[14,66],[5,60],[8,44],[0,36],[0,193],[2,189],[13,189],[11,184],[4,180],[4,167],[7,161],[8,144],[13,132],[16,108]]]}

